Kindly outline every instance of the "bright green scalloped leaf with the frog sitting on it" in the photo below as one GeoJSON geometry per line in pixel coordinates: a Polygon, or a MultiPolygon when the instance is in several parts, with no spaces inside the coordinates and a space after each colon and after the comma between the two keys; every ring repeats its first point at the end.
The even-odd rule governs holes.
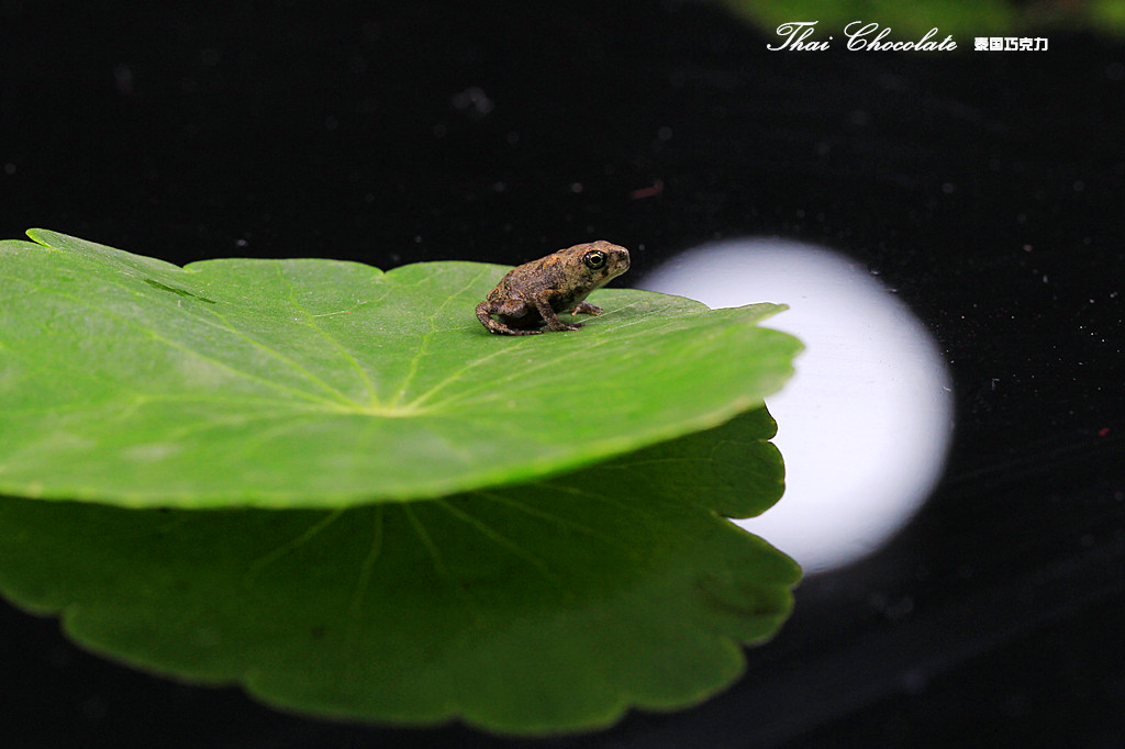
{"type": "Polygon", "coordinates": [[[336,507],[525,480],[760,404],[800,344],[602,290],[573,333],[487,333],[498,265],[178,268],[45,231],[0,242],[0,493],[336,507]]]}

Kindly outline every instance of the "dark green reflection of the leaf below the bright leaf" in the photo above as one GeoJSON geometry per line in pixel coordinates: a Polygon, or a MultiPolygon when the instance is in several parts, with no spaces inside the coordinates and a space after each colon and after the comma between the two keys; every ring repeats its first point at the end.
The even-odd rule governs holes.
{"type": "Polygon", "coordinates": [[[560,479],[338,511],[0,499],[0,589],[89,648],[279,706],[538,733],[735,679],[796,566],[764,409],[560,479]]]}

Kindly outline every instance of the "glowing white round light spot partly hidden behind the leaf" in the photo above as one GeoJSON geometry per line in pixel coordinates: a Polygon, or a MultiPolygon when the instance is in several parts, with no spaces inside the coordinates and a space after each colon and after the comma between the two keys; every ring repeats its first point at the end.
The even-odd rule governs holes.
{"type": "Polygon", "coordinates": [[[794,377],[766,398],[785,496],[739,525],[822,572],[878,549],[925,502],[952,436],[948,371],[929,332],[862,265],[811,244],[731,241],[672,259],[640,288],[712,308],[783,303],[765,326],[804,342],[794,377]]]}

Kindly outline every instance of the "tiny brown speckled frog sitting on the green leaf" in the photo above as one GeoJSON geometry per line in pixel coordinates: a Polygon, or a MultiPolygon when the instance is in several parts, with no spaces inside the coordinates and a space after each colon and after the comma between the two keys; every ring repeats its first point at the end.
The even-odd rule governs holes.
{"type": "Polygon", "coordinates": [[[605,241],[576,244],[508,271],[477,305],[477,318],[503,335],[534,335],[543,324],[549,331],[577,331],[580,323],[564,323],[558,314],[600,315],[602,308],[586,297],[627,270],[624,247],[605,241]]]}

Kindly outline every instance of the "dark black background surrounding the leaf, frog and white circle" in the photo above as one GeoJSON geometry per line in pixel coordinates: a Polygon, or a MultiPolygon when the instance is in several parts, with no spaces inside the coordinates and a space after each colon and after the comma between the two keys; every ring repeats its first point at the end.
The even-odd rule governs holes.
{"type": "MultiPolygon", "coordinates": [[[[633,280],[717,237],[829,244],[952,366],[938,490],[875,557],[807,579],[727,693],[529,743],[1118,747],[1125,47],[1046,36],[790,53],[699,4],[8,1],[0,236],[384,268],[605,237],[633,280]]],[[[0,632],[6,746],[500,742],[281,715],[7,606],[0,632]]]]}

